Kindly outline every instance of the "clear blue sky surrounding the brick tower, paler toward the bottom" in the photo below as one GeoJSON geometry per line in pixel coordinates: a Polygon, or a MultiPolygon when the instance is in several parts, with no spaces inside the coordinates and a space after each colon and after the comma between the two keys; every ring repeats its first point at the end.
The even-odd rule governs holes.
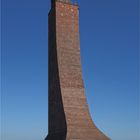
{"type": "MultiPolygon", "coordinates": [[[[112,140],[139,140],[138,0],[77,0],[90,113],[112,140]]],[[[2,0],[2,138],[48,127],[50,0],[2,0]]]]}

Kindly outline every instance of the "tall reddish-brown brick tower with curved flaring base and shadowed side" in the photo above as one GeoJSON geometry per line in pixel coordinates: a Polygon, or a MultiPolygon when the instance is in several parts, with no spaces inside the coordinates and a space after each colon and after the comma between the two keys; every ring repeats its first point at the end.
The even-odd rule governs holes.
{"type": "Polygon", "coordinates": [[[109,140],[93,123],[80,63],[79,7],[52,0],[49,12],[49,134],[45,140],[109,140]]]}

